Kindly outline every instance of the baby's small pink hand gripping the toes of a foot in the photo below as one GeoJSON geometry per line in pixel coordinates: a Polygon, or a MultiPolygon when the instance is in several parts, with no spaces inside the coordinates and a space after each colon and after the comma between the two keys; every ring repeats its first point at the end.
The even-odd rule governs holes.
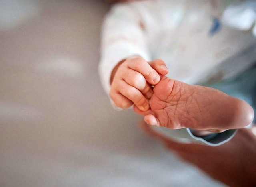
{"type": "Polygon", "coordinates": [[[148,99],[153,94],[151,85],[160,81],[158,73],[168,73],[166,64],[160,59],[147,62],[141,57],[130,57],[124,60],[112,76],[110,98],[123,109],[135,104],[142,111],[148,110],[148,99]]]}

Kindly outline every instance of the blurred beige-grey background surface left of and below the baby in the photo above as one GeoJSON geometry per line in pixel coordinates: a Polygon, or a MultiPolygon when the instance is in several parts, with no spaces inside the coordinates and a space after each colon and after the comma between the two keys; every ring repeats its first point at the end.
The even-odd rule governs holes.
{"type": "Polygon", "coordinates": [[[103,0],[0,0],[0,186],[223,186],[112,109],[103,0]]]}

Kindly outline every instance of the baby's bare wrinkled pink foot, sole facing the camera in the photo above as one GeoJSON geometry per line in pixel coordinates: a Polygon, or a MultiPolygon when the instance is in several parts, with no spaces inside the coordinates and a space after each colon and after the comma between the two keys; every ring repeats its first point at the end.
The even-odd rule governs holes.
{"type": "Polygon", "coordinates": [[[188,85],[163,76],[154,87],[150,110],[135,112],[154,126],[194,128],[222,132],[249,125],[254,117],[250,105],[213,88],[188,85]]]}

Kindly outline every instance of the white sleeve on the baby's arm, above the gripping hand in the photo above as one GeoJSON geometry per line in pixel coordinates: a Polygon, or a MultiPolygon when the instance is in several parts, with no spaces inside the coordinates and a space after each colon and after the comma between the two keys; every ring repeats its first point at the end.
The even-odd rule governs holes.
{"type": "Polygon", "coordinates": [[[130,4],[116,4],[106,15],[102,28],[99,74],[104,90],[110,91],[110,75],[116,64],[132,55],[150,60],[140,15],[130,4]]]}

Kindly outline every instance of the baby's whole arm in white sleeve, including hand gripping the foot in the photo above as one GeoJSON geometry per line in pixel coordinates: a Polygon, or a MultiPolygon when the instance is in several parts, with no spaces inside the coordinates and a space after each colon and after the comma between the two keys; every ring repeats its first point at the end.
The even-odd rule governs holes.
{"type": "Polygon", "coordinates": [[[163,61],[148,63],[148,39],[140,24],[140,14],[130,4],[112,7],[103,24],[99,74],[112,104],[128,108],[135,103],[144,111],[152,95],[150,84],[160,81],[156,71],[165,75],[168,70],[160,67],[163,61]]]}

